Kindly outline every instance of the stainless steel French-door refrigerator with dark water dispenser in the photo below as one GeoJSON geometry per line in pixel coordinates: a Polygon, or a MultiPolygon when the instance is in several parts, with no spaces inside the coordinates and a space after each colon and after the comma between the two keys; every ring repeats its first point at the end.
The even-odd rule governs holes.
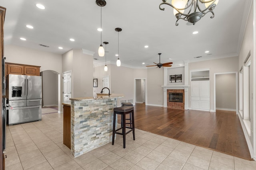
{"type": "Polygon", "coordinates": [[[8,124],[42,120],[42,76],[9,74],[7,80],[8,124]]]}

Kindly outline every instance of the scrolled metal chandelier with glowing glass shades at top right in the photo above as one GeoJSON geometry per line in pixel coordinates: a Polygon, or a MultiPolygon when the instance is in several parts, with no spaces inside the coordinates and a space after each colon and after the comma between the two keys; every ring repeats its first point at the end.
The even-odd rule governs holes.
{"type": "Polygon", "coordinates": [[[164,10],[164,8],[161,8],[163,4],[171,6],[173,9],[174,16],[177,18],[176,20],[176,26],[178,26],[178,20],[184,20],[188,21],[190,23],[193,23],[193,25],[196,24],[197,21],[199,21],[202,17],[205,16],[208,12],[212,13],[212,16],[210,18],[214,18],[214,8],[218,4],[219,0],[162,0],[163,2],[159,5],[160,10],[164,10]],[[205,5],[205,9],[200,8],[200,3],[205,5]],[[187,13],[185,13],[185,10],[187,13]]]}

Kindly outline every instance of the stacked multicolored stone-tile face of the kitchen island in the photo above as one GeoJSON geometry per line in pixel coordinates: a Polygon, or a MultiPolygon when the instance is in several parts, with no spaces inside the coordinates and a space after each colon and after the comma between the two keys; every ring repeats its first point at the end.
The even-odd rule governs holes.
{"type": "Polygon", "coordinates": [[[116,98],[71,102],[71,154],[75,158],[112,141],[116,104],[116,98]]]}

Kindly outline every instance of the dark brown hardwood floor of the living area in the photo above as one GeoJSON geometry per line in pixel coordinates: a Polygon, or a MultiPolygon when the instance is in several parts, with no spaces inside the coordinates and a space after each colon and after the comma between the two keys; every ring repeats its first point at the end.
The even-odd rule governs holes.
{"type": "Polygon", "coordinates": [[[136,104],[134,119],[137,129],[252,160],[234,111],[184,111],[136,104]]]}

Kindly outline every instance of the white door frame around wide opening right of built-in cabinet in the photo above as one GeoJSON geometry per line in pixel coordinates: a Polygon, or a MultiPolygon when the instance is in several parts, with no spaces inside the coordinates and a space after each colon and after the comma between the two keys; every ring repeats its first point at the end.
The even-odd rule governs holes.
{"type": "Polygon", "coordinates": [[[238,114],[238,72],[220,72],[213,74],[213,111],[216,112],[216,75],[218,74],[236,74],[236,114],[238,114]]]}

